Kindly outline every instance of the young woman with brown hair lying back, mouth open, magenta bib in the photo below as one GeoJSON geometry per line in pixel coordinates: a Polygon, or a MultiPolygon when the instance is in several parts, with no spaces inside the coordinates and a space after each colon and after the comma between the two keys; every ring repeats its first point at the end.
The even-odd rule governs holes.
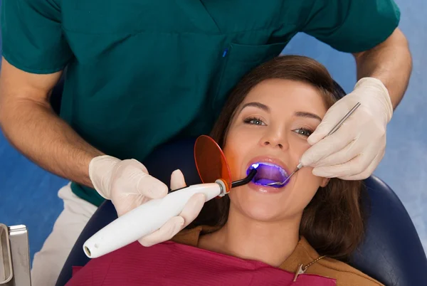
{"type": "Polygon", "coordinates": [[[345,263],[364,236],[362,181],[302,168],[285,186],[267,186],[295,169],[337,93],[310,58],[283,56],[252,70],[211,136],[233,180],[257,163],[255,179],[207,202],[172,241],[91,260],[68,285],[381,285],[345,263]]]}

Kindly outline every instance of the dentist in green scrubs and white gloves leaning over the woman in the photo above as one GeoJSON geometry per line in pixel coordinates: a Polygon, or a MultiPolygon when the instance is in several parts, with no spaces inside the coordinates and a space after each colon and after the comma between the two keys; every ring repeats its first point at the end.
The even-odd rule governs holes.
{"type": "MultiPolygon", "coordinates": [[[[374,171],[411,73],[393,0],[3,0],[1,9],[1,129],[22,154],[71,182],[58,193],[64,210],[34,257],[34,286],[55,283],[102,201],[112,200],[120,215],[165,196],[167,186],[140,161],[164,142],[208,133],[238,80],[280,55],[296,33],[357,63],[354,90],[308,139],[302,164],[316,175],[351,180],[374,171]],[[49,99],[61,76],[58,116],[49,99]],[[323,139],[355,102],[362,106],[323,139]]],[[[172,186],[182,184],[174,172],[172,186]]],[[[172,238],[203,204],[195,196],[140,242],[172,238]]]]}

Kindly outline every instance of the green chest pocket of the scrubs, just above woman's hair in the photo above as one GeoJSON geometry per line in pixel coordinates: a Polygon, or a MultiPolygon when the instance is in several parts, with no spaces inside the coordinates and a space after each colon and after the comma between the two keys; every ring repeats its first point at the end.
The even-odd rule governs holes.
{"type": "Polygon", "coordinates": [[[287,42],[272,43],[267,45],[242,45],[231,43],[223,51],[223,69],[218,83],[216,96],[212,107],[216,115],[219,115],[226,97],[238,83],[239,80],[250,70],[261,63],[271,60],[283,51],[287,42]]]}

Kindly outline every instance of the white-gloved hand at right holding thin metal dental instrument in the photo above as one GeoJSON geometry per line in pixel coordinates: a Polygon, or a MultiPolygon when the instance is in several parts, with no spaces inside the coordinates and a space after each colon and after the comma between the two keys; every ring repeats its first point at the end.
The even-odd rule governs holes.
{"type": "Polygon", "coordinates": [[[326,178],[360,180],[369,177],[384,157],[386,126],[393,115],[389,92],[376,78],[362,78],[353,92],[335,102],[307,141],[303,166],[326,178]],[[339,120],[360,102],[341,127],[324,138],[339,120]]]}

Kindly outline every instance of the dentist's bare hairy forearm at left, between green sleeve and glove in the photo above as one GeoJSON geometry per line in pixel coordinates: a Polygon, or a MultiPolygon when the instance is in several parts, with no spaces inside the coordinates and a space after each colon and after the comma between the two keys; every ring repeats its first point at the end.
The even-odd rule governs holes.
{"type": "Polygon", "coordinates": [[[0,126],[9,142],[38,166],[92,187],[89,163],[102,152],[53,112],[49,97],[60,75],[26,73],[3,58],[0,126]]]}

